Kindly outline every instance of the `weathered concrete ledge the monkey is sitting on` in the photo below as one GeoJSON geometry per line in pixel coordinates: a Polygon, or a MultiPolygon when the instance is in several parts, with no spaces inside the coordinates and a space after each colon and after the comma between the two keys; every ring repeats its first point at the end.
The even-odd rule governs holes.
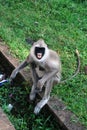
{"type": "MultiPolygon", "coordinates": [[[[13,58],[9,54],[9,48],[6,45],[4,46],[3,43],[0,43],[0,57],[5,59],[6,63],[10,65],[10,73],[19,64],[19,60],[13,58]]],[[[26,70],[21,71],[20,76],[21,79],[30,81],[30,74],[26,70]]],[[[42,94],[39,94],[38,96],[41,98],[42,94]]],[[[78,118],[71,111],[66,109],[66,106],[60,99],[51,98],[46,107],[47,110],[56,118],[63,130],[86,130],[86,128],[78,121],[78,118]]]]}

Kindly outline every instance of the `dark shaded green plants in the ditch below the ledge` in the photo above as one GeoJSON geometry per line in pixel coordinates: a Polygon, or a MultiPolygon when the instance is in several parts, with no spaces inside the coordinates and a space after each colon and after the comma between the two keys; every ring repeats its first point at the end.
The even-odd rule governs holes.
{"type": "Polygon", "coordinates": [[[10,87],[9,84],[0,87],[0,107],[8,115],[16,130],[59,130],[52,115],[41,112],[39,116],[33,113],[35,104],[29,105],[29,93],[25,85],[10,87]],[[8,104],[13,105],[9,111],[8,104]]]}

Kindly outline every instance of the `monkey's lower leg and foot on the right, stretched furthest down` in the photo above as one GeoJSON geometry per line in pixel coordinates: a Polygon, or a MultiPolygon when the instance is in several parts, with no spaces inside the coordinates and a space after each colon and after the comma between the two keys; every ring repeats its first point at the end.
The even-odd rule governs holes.
{"type": "Polygon", "coordinates": [[[41,110],[41,108],[48,102],[50,98],[50,92],[53,86],[53,79],[46,82],[46,88],[45,88],[45,94],[42,100],[36,105],[34,109],[34,113],[38,114],[41,110]]]}

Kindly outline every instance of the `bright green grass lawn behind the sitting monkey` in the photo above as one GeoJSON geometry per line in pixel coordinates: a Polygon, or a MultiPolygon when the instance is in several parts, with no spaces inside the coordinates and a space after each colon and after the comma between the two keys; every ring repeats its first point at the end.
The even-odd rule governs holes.
{"type": "Polygon", "coordinates": [[[87,126],[87,1],[81,0],[0,0],[0,37],[20,61],[29,53],[25,39],[43,38],[62,61],[62,79],[76,68],[75,49],[81,59],[80,73],[52,95],[60,97],[87,126]]]}

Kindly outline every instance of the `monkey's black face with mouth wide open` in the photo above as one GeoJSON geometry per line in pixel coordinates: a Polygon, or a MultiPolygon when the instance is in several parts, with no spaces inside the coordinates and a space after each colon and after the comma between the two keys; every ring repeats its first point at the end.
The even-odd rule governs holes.
{"type": "Polygon", "coordinates": [[[45,54],[45,48],[44,47],[35,47],[35,56],[37,59],[41,59],[45,54]]]}

